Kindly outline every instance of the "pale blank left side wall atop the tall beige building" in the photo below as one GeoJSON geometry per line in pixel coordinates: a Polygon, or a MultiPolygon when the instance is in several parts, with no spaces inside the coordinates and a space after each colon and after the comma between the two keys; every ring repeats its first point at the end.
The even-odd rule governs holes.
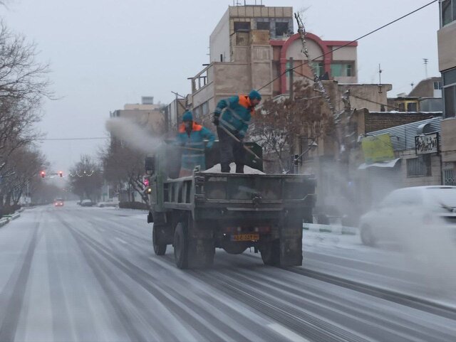
{"type": "Polygon", "coordinates": [[[214,31],[209,37],[209,53],[211,62],[219,62],[220,54],[223,55],[223,61],[229,62],[229,10],[220,19],[214,31]]]}

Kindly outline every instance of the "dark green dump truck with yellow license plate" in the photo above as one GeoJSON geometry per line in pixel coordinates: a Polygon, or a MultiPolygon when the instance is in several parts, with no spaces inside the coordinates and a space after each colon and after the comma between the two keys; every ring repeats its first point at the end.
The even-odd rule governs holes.
{"type": "MultiPolygon", "coordinates": [[[[261,147],[247,143],[261,158],[261,147]]],[[[206,152],[206,168],[219,164],[215,141],[206,152]]],[[[262,170],[259,159],[246,154],[245,164],[262,170]]],[[[174,246],[181,269],[209,267],[215,248],[241,254],[249,247],[261,253],[264,264],[302,264],[302,223],[316,201],[312,176],[218,173],[195,169],[178,178],[180,151],[162,144],[146,159],[152,245],[164,255],[174,246]]]]}

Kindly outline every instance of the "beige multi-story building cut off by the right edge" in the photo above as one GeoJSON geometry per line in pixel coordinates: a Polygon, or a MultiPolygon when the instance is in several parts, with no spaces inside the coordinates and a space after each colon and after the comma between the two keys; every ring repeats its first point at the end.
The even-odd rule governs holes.
{"type": "Polygon", "coordinates": [[[456,0],[440,0],[437,43],[443,92],[443,174],[445,184],[456,185],[456,0]]]}

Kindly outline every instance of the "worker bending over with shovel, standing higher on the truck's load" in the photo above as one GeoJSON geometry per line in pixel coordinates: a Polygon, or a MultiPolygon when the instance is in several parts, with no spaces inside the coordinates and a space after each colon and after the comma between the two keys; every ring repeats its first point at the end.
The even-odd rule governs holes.
{"type": "Polygon", "coordinates": [[[214,125],[217,126],[222,172],[229,172],[229,163],[234,160],[236,173],[244,173],[244,140],[254,108],[261,102],[261,95],[252,90],[249,95],[232,96],[220,100],[214,111],[214,125]],[[227,132],[231,133],[233,139],[227,132]]]}

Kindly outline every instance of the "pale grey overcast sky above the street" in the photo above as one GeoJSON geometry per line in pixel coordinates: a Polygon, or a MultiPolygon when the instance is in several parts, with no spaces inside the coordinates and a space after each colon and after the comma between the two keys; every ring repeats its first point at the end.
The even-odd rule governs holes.
{"type": "MultiPolygon", "coordinates": [[[[240,1],[242,4],[244,1],[240,1]]],[[[264,0],[266,6],[306,9],[307,31],[323,40],[351,41],[429,3],[430,0],[264,0]]],[[[260,0],[257,0],[260,3],[260,0]]],[[[51,64],[52,90],[39,128],[50,139],[105,137],[109,112],[143,95],[168,103],[171,91],[190,92],[188,77],[209,62],[209,35],[231,0],[10,0],[1,16],[11,30],[38,46],[51,64]]],[[[247,1],[254,4],[254,1],[247,1]]],[[[296,26],[296,24],[295,24],[296,26]]],[[[439,76],[438,4],[363,38],[358,81],[393,84],[388,94],[410,92],[410,83],[439,76]]],[[[294,30],[296,32],[296,28],[294,30]]],[[[67,172],[81,154],[95,154],[100,140],[44,141],[54,171],[67,172]]]]}

